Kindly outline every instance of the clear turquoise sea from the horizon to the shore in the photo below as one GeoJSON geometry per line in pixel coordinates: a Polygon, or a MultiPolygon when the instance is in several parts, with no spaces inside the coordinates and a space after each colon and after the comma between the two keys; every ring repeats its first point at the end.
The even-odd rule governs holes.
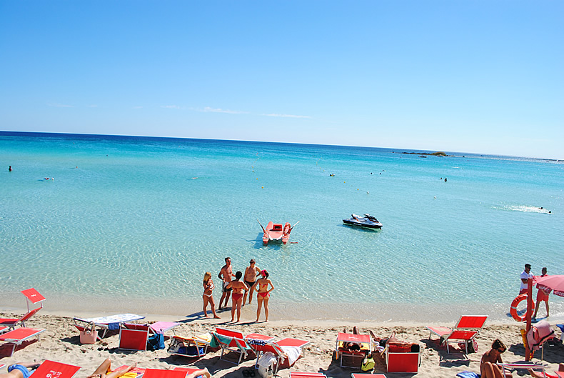
{"type": "Polygon", "coordinates": [[[35,287],[53,311],[191,316],[231,257],[271,274],[273,319],[503,320],[523,264],[564,274],[563,161],[403,152],[0,132],[0,309],[35,287]],[[263,246],[257,220],[300,223],[263,246]]]}

